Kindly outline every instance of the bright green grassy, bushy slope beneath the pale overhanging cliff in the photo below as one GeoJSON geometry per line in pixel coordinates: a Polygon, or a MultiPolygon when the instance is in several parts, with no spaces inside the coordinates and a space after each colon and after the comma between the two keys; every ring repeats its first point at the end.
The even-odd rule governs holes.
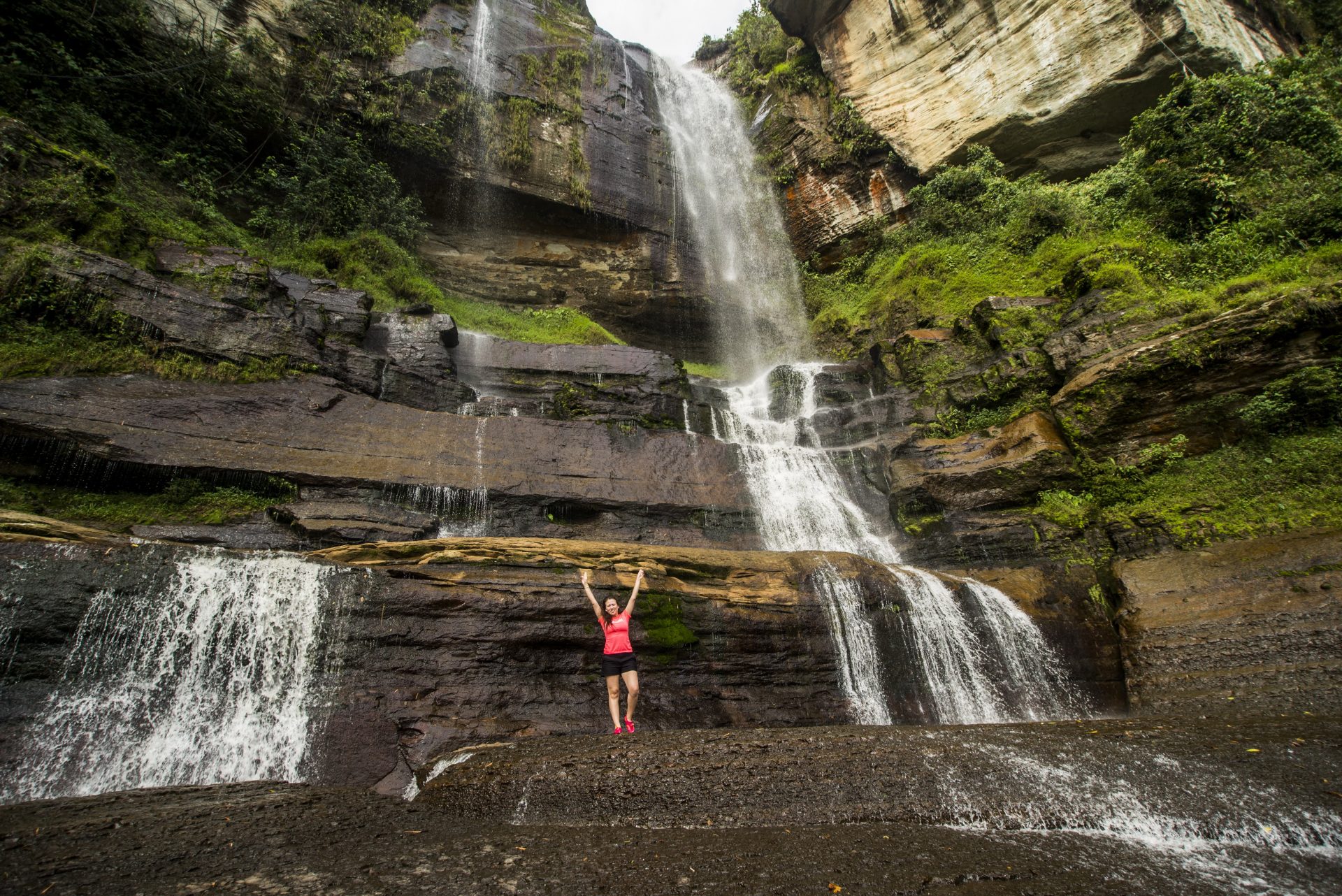
{"type": "Polygon", "coordinates": [[[1028,347],[1092,290],[1126,322],[1189,325],[1329,282],[1342,272],[1339,80],[1327,48],[1189,79],[1137,118],[1122,161],[1074,184],[1012,178],[977,149],[910,193],[913,224],[837,271],[812,262],[817,338],[855,354],[951,327],[989,295],[1057,298],[1002,318],[1002,346],[1028,347]]]}

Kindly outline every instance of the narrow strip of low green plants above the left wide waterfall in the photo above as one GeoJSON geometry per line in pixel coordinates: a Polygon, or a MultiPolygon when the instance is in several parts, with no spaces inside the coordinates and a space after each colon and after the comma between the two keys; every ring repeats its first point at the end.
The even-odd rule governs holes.
{"type": "Polygon", "coordinates": [[[215,526],[239,522],[294,498],[297,490],[279,479],[272,480],[264,492],[178,479],[161,492],[145,495],[90,492],[0,478],[0,507],[122,530],[165,523],[215,526]]]}

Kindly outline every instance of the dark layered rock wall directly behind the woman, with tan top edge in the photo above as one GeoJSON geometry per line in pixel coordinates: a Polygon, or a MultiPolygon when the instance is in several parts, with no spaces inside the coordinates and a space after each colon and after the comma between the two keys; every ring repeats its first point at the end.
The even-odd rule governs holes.
{"type": "MultiPolygon", "coordinates": [[[[201,549],[130,545],[8,515],[0,518],[0,622],[13,645],[0,684],[3,763],[40,722],[94,594],[165,593],[176,567],[201,549]]],[[[899,718],[921,718],[902,614],[887,609],[918,596],[863,558],[475,538],[340,547],[310,559],[345,571],[323,606],[323,630],[340,659],[319,685],[329,708],[315,727],[317,781],[380,782],[400,793],[444,750],[603,730],[600,632],[578,585],[581,569],[593,570],[600,594],[624,594],[635,570],[648,571],[633,641],[644,661],[639,715],[652,730],[844,722],[849,710],[820,575],[860,583],[864,612],[883,630],[886,685],[899,718]]],[[[1084,605],[1031,612],[1057,630],[1072,629],[1063,640],[1071,673],[1096,708],[1119,708],[1113,630],[1091,625],[1084,605]]]]}

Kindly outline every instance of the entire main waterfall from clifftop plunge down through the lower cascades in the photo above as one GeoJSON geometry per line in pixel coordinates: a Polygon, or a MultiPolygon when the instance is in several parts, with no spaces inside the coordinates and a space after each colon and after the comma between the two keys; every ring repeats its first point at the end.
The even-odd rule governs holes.
{"type": "MultiPolygon", "coordinates": [[[[741,445],[765,546],[860,554],[890,566],[911,596],[913,649],[927,715],[945,723],[1057,718],[1083,711],[1033,622],[986,585],[970,604],[930,573],[902,565],[888,526],[849,498],[809,420],[823,365],[808,354],[796,263],[777,200],[754,165],[735,98],[709,75],[655,64],[676,160],[679,203],[703,256],[722,357],[754,378],[727,390],[718,435],[741,445]],[[778,365],[781,361],[789,361],[778,365]],[[974,612],[970,618],[968,610],[974,612]]],[[[884,672],[866,600],[832,570],[817,581],[833,634],[840,685],[856,722],[888,724],[884,672]]]]}

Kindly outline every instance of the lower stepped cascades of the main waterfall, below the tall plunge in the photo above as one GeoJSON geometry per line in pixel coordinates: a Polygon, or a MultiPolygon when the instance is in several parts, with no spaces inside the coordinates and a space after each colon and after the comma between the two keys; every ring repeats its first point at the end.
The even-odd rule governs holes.
{"type": "MultiPolygon", "coordinates": [[[[848,495],[831,452],[811,425],[820,363],[770,370],[726,390],[730,409],[714,414],[714,436],[741,447],[765,547],[825,550],[886,565],[909,596],[910,645],[921,664],[925,711],[937,722],[969,724],[1080,715],[1057,656],[1011,598],[965,582],[960,600],[939,577],[903,565],[888,531],[848,495]],[[968,610],[968,612],[966,612],[968,610]]],[[[880,655],[858,582],[836,571],[816,581],[833,633],[840,685],[856,722],[888,724],[880,655]]]]}

